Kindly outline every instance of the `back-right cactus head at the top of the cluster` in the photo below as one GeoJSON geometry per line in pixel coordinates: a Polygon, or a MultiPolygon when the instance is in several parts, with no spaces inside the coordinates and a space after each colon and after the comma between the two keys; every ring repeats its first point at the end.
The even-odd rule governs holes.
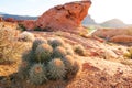
{"type": "Polygon", "coordinates": [[[47,42],[54,48],[57,46],[64,46],[64,41],[62,38],[58,38],[58,37],[57,38],[50,38],[47,42]]]}

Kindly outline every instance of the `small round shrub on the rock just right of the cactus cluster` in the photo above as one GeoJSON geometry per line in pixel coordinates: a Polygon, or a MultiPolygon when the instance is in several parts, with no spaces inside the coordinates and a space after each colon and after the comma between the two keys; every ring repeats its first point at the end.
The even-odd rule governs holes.
{"type": "Polygon", "coordinates": [[[74,51],[75,51],[76,54],[78,54],[80,56],[85,56],[86,55],[86,51],[85,51],[82,45],[75,45],[74,46],[74,51]]]}

